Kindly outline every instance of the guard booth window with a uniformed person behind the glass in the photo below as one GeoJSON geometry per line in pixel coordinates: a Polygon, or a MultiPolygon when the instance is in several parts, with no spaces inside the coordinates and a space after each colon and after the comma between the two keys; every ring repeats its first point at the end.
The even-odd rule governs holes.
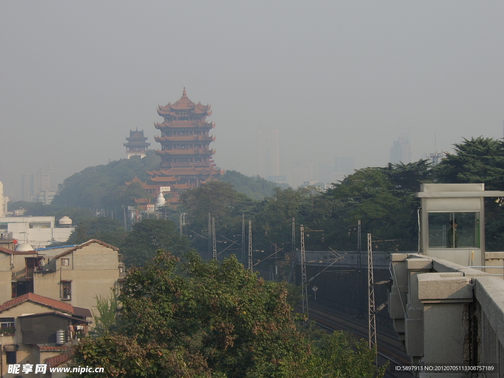
{"type": "Polygon", "coordinates": [[[430,248],[479,248],[479,212],[429,212],[430,248]]]}

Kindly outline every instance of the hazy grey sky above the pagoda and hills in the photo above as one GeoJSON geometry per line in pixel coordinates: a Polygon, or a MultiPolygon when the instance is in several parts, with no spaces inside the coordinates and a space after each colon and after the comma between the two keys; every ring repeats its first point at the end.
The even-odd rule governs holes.
{"type": "MultiPolygon", "coordinates": [[[[0,1],[0,180],[69,176],[157,148],[156,107],[212,105],[218,166],[256,174],[258,128],[284,165],[383,166],[502,137],[504,2],[0,1]]],[[[159,146],[159,145],[158,145],[159,146]]],[[[21,197],[21,196],[20,196],[21,197]]]]}

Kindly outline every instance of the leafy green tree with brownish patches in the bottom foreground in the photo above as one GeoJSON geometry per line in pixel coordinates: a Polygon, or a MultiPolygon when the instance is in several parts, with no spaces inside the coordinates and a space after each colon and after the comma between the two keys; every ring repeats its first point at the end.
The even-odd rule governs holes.
{"type": "Polygon", "coordinates": [[[312,339],[286,299],[235,258],[180,263],[160,250],[129,273],[118,332],[81,342],[73,364],[123,377],[374,376],[375,350],[341,333],[312,339]]]}

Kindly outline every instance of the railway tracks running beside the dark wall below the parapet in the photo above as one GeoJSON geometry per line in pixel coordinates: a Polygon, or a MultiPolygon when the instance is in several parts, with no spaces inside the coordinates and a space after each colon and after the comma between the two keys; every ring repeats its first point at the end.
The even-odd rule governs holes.
{"type": "MultiPolygon", "coordinates": [[[[316,322],[321,328],[334,332],[347,331],[358,338],[367,340],[368,328],[361,323],[351,319],[342,318],[321,308],[310,306],[309,319],[316,322]]],[[[376,342],[378,344],[378,364],[383,365],[389,361],[389,366],[385,373],[387,378],[414,378],[414,373],[409,371],[397,372],[395,366],[410,366],[408,356],[400,349],[400,341],[391,335],[383,332],[376,332],[376,342]]]]}

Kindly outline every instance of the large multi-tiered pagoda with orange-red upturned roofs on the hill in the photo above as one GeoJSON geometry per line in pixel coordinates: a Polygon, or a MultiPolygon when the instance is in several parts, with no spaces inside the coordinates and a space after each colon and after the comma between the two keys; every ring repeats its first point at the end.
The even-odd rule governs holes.
{"type": "MultiPolygon", "coordinates": [[[[154,137],[161,144],[161,149],[156,150],[161,164],[158,170],[147,172],[157,187],[156,195],[159,192],[175,195],[180,189],[198,187],[224,173],[215,168],[212,160],[215,150],[209,148],[215,140],[209,135],[215,123],[206,121],[212,114],[210,105],[194,103],[187,98],[184,88],[178,101],[159,106],[157,111],[164,118],[162,123],[154,123],[161,132],[161,136],[154,137]]],[[[177,202],[176,198],[173,200],[177,202]]]]}

